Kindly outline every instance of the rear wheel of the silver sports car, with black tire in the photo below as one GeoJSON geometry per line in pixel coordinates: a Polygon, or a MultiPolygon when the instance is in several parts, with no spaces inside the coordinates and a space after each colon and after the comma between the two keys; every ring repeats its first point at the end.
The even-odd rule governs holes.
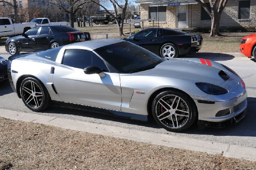
{"type": "Polygon", "coordinates": [[[46,87],[35,78],[25,78],[20,85],[20,96],[23,103],[35,112],[47,109],[51,98],[46,87]]]}

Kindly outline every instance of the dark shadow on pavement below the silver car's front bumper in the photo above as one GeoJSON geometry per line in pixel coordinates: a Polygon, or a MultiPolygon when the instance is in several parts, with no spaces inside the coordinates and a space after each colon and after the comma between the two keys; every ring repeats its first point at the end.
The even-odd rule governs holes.
{"type": "Polygon", "coordinates": [[[224,128],[211,128],[205,127],[204,129],[198,129],[192,127],[187,130],[187,134],[197,135],[214,135],[214,136],[244,136],[244,137],[256,137],[256,98],[247,98],[247,114],[237,124],[224,128]]]}

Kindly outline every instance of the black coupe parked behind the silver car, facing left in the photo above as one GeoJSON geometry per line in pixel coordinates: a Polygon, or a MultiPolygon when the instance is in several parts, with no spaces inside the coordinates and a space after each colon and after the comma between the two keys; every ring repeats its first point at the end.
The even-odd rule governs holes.
{"type": "Polygon", "coordinates": [[[137,44],[163,58],[176,58],[201,49],[203,37],[190,35],[176,29],[149,28],[124,40],[137,44]]]}

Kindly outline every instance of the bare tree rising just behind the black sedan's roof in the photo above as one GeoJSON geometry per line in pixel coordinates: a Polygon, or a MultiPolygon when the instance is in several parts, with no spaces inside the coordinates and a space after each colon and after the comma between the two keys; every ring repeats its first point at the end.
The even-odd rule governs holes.
{"type": "Polygon", "coordinates": [[[74,28],[74,17],[77,10],[81,9],[88,0],[52,0],[52,4],[70,14],[70,26],[74,28]]]}

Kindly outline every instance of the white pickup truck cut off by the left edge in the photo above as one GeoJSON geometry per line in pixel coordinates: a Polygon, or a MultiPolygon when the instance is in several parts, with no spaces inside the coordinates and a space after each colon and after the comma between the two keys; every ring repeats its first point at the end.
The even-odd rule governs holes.
{"type": "Polygon", "coordinates": [[[13,23],[11,18],[0,18],[0,37],[21,35],[35,27],[35,23],[13,23]]]}

